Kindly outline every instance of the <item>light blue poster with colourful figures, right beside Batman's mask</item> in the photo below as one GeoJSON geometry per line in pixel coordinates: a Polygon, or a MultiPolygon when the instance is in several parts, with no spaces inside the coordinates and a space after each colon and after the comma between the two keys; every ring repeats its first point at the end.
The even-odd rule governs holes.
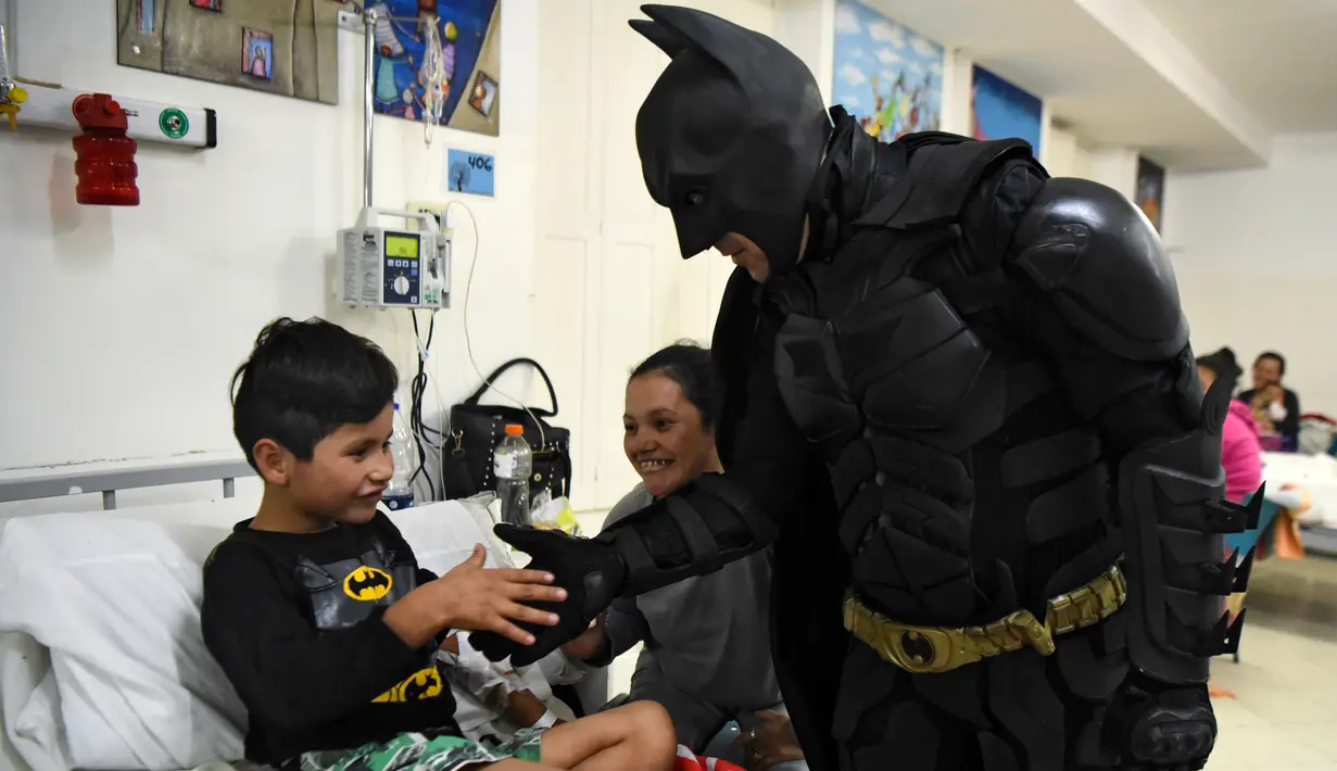
{"type": "Polygon", "coordinates": [[[870,135],[892,142],[937,131],[943,47],[852,0],[836,4],[836,103],[870,135]]]}

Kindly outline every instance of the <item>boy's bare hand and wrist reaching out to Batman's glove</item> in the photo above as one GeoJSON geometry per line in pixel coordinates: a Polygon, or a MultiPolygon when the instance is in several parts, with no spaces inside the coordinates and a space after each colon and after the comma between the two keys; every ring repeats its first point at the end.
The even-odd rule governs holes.
{"type": "Polygon", "coordinates": [[[552,573],[484,568],[487,552],[475,544],[473,553],[449,573],[409,592],[385,611],[385,623],[405,644],[421,647],[441,629],[495,632],[521,645],[533,635],[512,623],[537,627],[558,623],[555,613],[523,603],[560,603],[566,589],[551,587],[552,573]]]}

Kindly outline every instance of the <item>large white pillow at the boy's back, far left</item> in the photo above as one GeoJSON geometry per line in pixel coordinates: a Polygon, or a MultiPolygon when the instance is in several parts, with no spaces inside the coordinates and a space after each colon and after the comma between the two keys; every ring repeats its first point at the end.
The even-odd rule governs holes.
{"type": "Polygon", "coordinates": [[[7,524],[0,631],[51,649],[74,767],[174,770],[242,756],[245,710],[199,631],[197,555],[223,533],[103,514],[7,524]]]}

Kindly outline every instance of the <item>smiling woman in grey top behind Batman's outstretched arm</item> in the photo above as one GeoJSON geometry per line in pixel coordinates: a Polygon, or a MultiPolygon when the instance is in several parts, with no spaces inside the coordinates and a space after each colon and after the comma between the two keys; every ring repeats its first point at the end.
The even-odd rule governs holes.
{"type": "MultiPolygon", "coordinates": [[[[632,370],[623,448],[640,484],[612,508],[604,526],[703,473],[723,470],[714,437],[721,405],[710,351],[694,343],[671,345],[632,370]]],[[[715,573],[616,600],[562,649],[603,667],[644,641],[631,679],[632,702],[663,704],[678,742],[697,754],[737,719],[753,766],[761,756],[747,742],[757,736],[750,728],[765,726],[755,712],[782,711],[770,659],[769,603],[770,555],[762,551],[715,573]]]]}

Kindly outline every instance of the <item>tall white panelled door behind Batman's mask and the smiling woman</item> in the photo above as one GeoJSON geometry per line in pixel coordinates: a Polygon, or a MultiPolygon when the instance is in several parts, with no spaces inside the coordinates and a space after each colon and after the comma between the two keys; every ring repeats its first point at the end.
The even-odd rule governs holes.
{"type": "MultiPolygon", "coordinates": [[[[770,0],[681,3],[770,33],[770,0]]],[[[668,212],[646,192],[636,110],[668,63],[627,25],[632,0],[539,4],[539,250],[535,350],[572,432],[578,509],[606,509],[636,481],[622,452],[622,394],[636,362],[679,338],[710,342],[733,270],[683,261],[668,212]]]]}

